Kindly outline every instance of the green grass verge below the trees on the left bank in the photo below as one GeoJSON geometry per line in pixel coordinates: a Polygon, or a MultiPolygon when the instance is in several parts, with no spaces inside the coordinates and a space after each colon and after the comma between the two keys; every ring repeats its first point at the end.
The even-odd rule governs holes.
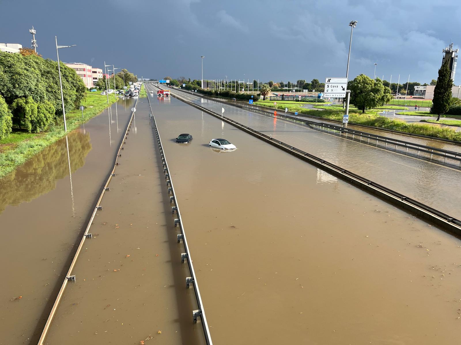
{"type": "MultiPolygon", "coordinates": [[[[114,97],[109,97],[109,104],[115,101],[114,97]]],[[[106,109],[107,97],[95,94],[95,92],[88,92],[82,105],[85,107],[83,109],[83,118],[81,110],[73,110],[65,114],[68,132],[76,129],[82,123],[89,121],[106,109]]],[[[11,173],[17,166],[64,136],[64,121],[59,121],[58,124],[53,125],[46,132],[12,132],[8,138],[0,141],[0,178],[11,173]]]]}

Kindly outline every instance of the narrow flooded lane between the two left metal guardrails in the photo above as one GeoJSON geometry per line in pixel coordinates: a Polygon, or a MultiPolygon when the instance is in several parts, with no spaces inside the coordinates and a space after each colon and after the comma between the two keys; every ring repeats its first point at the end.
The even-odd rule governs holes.
{"type": "Polygon", "coordinates": [[[203,344],[149,112],[141,98],[45,344],[203,344]]]}

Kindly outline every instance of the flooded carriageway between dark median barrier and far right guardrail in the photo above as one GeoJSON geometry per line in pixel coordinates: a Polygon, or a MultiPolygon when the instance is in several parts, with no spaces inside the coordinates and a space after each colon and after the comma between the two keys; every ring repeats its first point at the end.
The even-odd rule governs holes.
{"type": "Polygon", "coordinates": [[[290,121],[269,118],[184,92],[178,95],[218,113],[222,107],[225,116],[234,121],[267,135],[271,134],[272,138],[461,219],[458,206],[461,202],[461,184],[457,183],[461,178],[459,170],[352,142],[290,121]]]}

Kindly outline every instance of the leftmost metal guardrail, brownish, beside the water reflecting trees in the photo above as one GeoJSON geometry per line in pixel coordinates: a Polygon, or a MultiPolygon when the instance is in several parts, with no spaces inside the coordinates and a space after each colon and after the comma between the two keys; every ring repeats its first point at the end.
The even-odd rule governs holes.
{"type": "MultiPolygon", "coordinates": [[[[136,100],[135,107],[136,107],[137,103],[138,103],[138,101],[136,100]]],[[[56,313],[56,311],[58,309],[58,306],[59,306],[59,302],[61,301],[61,298],[64,295],[64,291],[65,291],[65,288],[67,287],[67,283],[70,282],[70,281],[75,282],[75,280],[76,280],[75,276],[72,275],[72,271],[74,270],[74,266],[77,263],[78,256],[80,255],[80,252],[82,251],[83,243],[85,242],[86,239],[92,237],[89,230],[91,228],[91,224],[93,223],[93,219],[95,218],[96,212],[98,210],[102,209],[102,206],[100,206],[101,201],[102,201],[102,197],[104,196],[105,192],[107,190],[109,190],[109,183],[112,180],[112,177],[115,176],[115,167],[118,166],[118,162],[117,162],[118,157],[121,157],[120,151],[124,149],[123,145],[125,144],[125,140],[127,139],[127,135],[129,134],[128,132],[130,132],[131,122],[133,122],[133,114],[134,113],[131,112],[131,118],[130,118],[130,121],[128,122],[127,126],[126,126],[124,139],[122,139],[122,141],[120,143],[120,146],[118,147],[118,151],[117,151],[117,155],[115,156],[115,161],[114,161],[114,165],[112,167],[112,171],[109,174],[109,177],[107,178],[106,184],[104,185],[104,187],[101,190],[101,194],[100,194],[100,196],[98,198],[98,201],[96,202],[95,209],[93,210],[93,213],[92,213],[92,215],[91,215],[91,217],[89,219],[89,222],[87,224],[85,232],[83,233],[82,239],[80,240],[80,244],[77,247],[77,252],[75,253],[74,258],[72,259],[72,262],[71,262],[71,265],[69,267],[69,270],[67,271],[67,274],[66,274],[66,276],[64,278],[64,282],[62,283],[61,288],[59,289],[58,296],[56,297],[56,300],[54,301],[53,307],[51,308],[50,315],[48,316],[47,322],[45,323],[45,327],[43,328],[43,331],[41,333],[40,339],[38,341],[38,345],[43,345],[44,344],[45,338],[47,337],[49,328],[51,326],[51,322],[53,321],[54,314],[56,313]]]]}

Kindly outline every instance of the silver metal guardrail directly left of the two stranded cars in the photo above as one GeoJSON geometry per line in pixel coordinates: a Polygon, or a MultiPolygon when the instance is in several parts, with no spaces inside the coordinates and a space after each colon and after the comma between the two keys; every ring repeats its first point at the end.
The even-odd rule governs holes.
{"type": "Polygon", "coordinates": [[[191,275],[190,277],[186,277],[186,287],[189,288],[190,284],[193,285],[194,292],[195,292],[195,300],[197,301],[197,305],[198,305],[198,309],[192,311],[192,319],[193,319],[193,322],[197,322],[197,317],[200,317],[201,325],[203,328],[203,333],[205,334],[205,341],[207,342],[207,345],[213,345],[213,342],[211,340],[210,330],[208,328],[207,317],[205,316],[205,308],[203,307],[203,302],[202,302],[201,295],[200,295],[197,277],[195,275],[194,265],[192,265],[192,258],[191,258],[190,251],[189,251],[189,245],[187,244],[186,232],[184,230],[183,220],[181,217],[181,213],[179,211],[179,204],[177,202],[177,197],[176,197],[176,193],[174,190],[173,182],[171,181],[170,168],[168,167],[168,163],[166,162],[165,152],[163,150],[162,141],[160,139],[160,133],[157,128],[157,124],[155,122],[154,112],[152,110],[152,105],[150,104],[149,98],[150,98],[150,95],[148,95],[148,102],[149,102],[149,107],[151,111],[150,113],[151,127],[153,126],[155,130],[155,134],[157,136],[157,143],[159,145],[160,157],[162,159],[163,171],[165,173],[166,185],[168,187],[168,194],[171,193],[172,195],[170,196],[170,202],[171,203],[174,202],[175,204],[174,207],[171,207],[171,212],[173,214],[176,212],[177,214],[177,219],[174,220],[174,226],[176,227],[179,224],[179,229],[180,229],[180,234],[177,235],[177,242],[180,242],[182,239],[184,250],[185,250],[185,253],[181,254],[181,261],[182,262],[187,261],[187,264],[189,266],[189,272],[191,275]]]}

